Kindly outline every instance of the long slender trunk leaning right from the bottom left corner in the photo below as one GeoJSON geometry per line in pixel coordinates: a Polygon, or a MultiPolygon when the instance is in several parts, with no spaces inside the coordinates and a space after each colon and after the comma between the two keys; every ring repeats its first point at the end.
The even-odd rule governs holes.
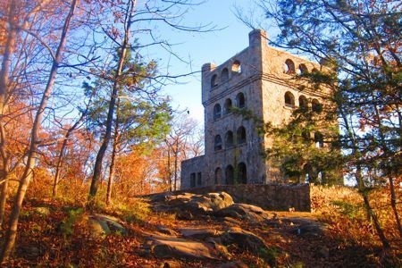
{"type": "Polygon", "coordinates": [[[70,5],[70,11],[67,14],[67,17],[64,21],[63,25],[63,32],[62,36],[60,38],[60,43],[59,46],[57,47],[57,51],[54,54],[55,58],[52,64],[52,68],[49,73],[49,78],[47,80],[45,92],[43,93],[42,100],[40,102],[40,105],[38,107],[38,111],[35,116],[35,120],[32,126],[32,131],[31,131],[31,137],[30,137],[30,143],[29,143],[29,152],[27,155],[27,165],[25,166],[23,175],[20,180],[20,184],[17,190],[17,194],[15,196],[14,202],[13,202],[13,210],[12,214],[10,215],[10,220],[9,220],[9,226],[8,230],[5,233],[4,237],[4,245],[1,251],[0,255],[0,264],[3,264],[11,254],[11,251],[13,250],[14,243],[15,243],[15,238],[17,236],[17,227],[18,227],[18,220],[20,217],[20,212],[21,212],[21,206],[22,206],[22,201],[25,197],[25,193],[27,191],[27,188],[29,186],[29,181],[32,177],[32,170],[35,166],[36,162],[36,156],[37,156],[37,150],[38,150],[38,141],[39,141],[39,130],[41,129],[41,121],[43,118],[43,115],[45,113],[46,105],[47,105],[47,100],[50,96],[50,93],[52,91],[52,88],[54,86],[54,80],[55,80],[55,75],[57,73],[57,69],[59,67],[59,63],[62,57],[62,52],[66,43],[67,39],[67,34],[70,29],[70,22],[71,18],[74,14],[75,8],[77,6],[77,0],[72,0],[71,5],[70,5]]]}

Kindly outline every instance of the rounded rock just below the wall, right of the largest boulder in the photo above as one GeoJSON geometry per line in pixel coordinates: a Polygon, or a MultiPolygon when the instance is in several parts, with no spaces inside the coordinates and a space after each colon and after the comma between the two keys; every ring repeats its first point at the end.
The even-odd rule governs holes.
{"type": "Polygon", "coordinates": [[[232,217],[249,222],[264,222],[270,219],[270,215],[259,206],[247,204],[234,204],[225,207],[215,214],[217,217],[232,217]]]}

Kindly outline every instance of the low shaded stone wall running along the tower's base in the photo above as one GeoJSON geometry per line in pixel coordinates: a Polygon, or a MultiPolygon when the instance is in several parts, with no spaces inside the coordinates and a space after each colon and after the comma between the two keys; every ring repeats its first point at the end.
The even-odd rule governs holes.
{"type": "MultiPolygon", "coordinates": [[[[224,191],[237,203],[258,205],[266,210],[310,211],[310,187],[308,184],[240,184],[215,185],[203,188],[188,188],[180,192],[205,194],[224,191]]],[[[176,192],[176,193],[178,193],[176,192]]]]}

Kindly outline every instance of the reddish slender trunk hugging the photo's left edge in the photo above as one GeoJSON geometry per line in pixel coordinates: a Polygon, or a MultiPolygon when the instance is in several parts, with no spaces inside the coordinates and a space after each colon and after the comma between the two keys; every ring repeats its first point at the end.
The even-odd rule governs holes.
{"type": "Polygon", "coordinates": [[[4,130],[4,112],[7,107],[8,97],[8,80],[10,73],[10,66],[12,61],[12,54],[15,46],[15,39],[17,37],[17,29],[14,25],[14,18],[16,17],[15,1],[10,2],[8,12],[8,27],[7,40],[5,42],[2,69],[0,71],[0,155],[2,157],[2,170],[0,171],[0,228],[4,222],[5,202],[7,200],[8,188],[8,165],[9,157],[6,152],[6,134],[4,130]]]}

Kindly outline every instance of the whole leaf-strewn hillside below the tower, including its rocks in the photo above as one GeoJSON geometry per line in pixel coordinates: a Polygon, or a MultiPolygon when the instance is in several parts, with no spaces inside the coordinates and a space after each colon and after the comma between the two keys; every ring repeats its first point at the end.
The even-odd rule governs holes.
{"type": "MultiPolygon", "coordinates": [[[[342,206],[340,200],[338,204],[342,206]]],[[[67,201],[29,199],[21,216],[18,247],[6,265],[379,266],[381,247],[369,247],[364,236],[358,242],[346,230],[340,232],[348,226],[348,222],[339,226],[340,215],[339,222],[333,222],[335,217],[322,211],[264,211],[233,203],[224,192],[165,193],[90,209],[67,201]]]]}

